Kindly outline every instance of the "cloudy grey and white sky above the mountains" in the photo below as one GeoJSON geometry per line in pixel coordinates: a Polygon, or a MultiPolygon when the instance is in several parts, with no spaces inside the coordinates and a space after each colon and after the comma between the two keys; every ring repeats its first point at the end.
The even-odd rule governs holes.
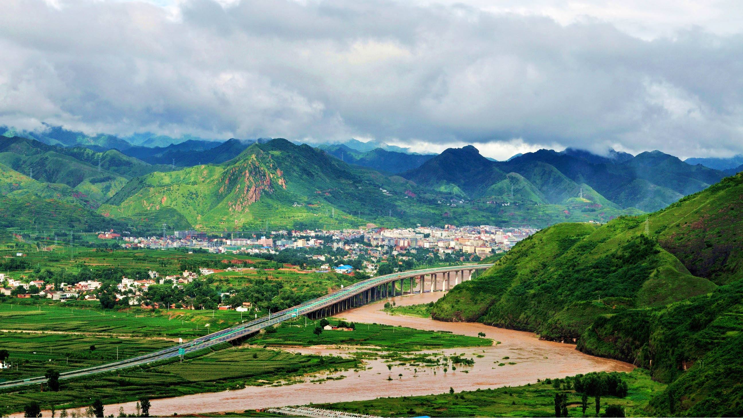
{"type": "Polygon", "coordinates": [[[729,156],[742,32],[724,0],[1,0],[0,124],[729,156]]]}

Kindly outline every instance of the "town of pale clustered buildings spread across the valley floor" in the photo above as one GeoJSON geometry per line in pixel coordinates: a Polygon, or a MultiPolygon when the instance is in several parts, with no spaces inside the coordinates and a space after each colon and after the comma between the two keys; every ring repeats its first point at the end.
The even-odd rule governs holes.
{"type": "MultiPolygon", "coordinates": [[[[93,270],[86,277],[53,276],[39,271],[30,280],[26,274],[0,274],[0,295],[11,298],[44,298],[53,301],[101,300],[120,306],[141,306],[147,309],[270,309],[256,298],[234,298],[234,289],[209,292],[195,303],[198,292],[193,283],[208,281],[217,273],[254,273],[256,271],[291,270],[302,273],[346,274],[353,280],[374,275],[432,266],[439,263],[478,262],[485,257],[503,254],[516,242],[534,234],[535,228],[499,228],[491,225],[445,225],[444,228],[359,228],[341,231],[271,231],[268,237],[215,237],[199,231],[174,231],[165,237],[122,237],[111,231],[98,234],[98,239],[120,242],[126,250],[156,249],[185,251],[186,254],[239,254],[265,260],[263,264],[232,259],[217,263],[194,264],[189,269],[162,274],[157,269],[137,271],[137,277],[110,277],[107,271],[93,270]],[[106,276],[106,277],[103,277],[106,276]],[[85,280],[87,279],[87,280],[85,280]],[[151,286],[163,292],[149,292],[151,286]],[[109,302],[110,301],[110,302],[109,302]],[[231,303],[227,303],[231,301],[231,303]],[[195,308],[196,306],[196,308],[195,308]]],[[[221,234],[220,234],[221,235],[221,234]]],[[[230,235],[232,235],[230,233],[230,235]]],[[[251,234],[253,235],[253,234],[251,234]]],[[[21,260],[18,253],[12,259],[21,260]]],[[[265,301],[265,300],[264,300],[265,301]]],[[[278,308],[279,306],[274,306],[278,308]]]]}

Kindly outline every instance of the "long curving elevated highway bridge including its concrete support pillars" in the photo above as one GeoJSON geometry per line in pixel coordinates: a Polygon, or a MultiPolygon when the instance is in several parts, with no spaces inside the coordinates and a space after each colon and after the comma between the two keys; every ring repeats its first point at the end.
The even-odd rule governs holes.
{"type": "MultiPolygon", "coordinates": [[[[126,367],[175,358],[181,356],[181,353],[193,353],[217,344],[243,338],[247,335],[259,332],[261,329],[266,327],[281,324],[284,321],[302,315],[307,315],[309,318],[324,318],[326,316],[343,312],[346,309],[373,302],[374,300],[404,295],[406,293],[405,289],[407,289],[408,294],[447,291],[459,283],[470,280],[476,270],[488,269],[491,266],[493,266],[493,264],[438,267],[434,269],[401,271],[399,273],[372,277],[371,279],[354,283],[351,286],[338,290],[337,292],[321,296],[317,299],[308,300],[305,303],[301,303],[289,309],[270,314],[267,317],[236,325],[235,327],[221,329],[221,331],[195,338],[194,340],[187,341],[183,344],[155,351],[154,353],[143,354],[142,356],[126,358],[121,361],[114,361],[82,369],[68,370],[59,373],[59,379],[73,379],[76,377],[90,376],[97,373],[106,373],[126,367]],[[406,283],[408,283],[408,286],[405,286],[406,283]]],[[[24,385],[37,385],[46,381],[47,379],[45,376],[17,379],[0,382],[0,389],[24,385]]]]}

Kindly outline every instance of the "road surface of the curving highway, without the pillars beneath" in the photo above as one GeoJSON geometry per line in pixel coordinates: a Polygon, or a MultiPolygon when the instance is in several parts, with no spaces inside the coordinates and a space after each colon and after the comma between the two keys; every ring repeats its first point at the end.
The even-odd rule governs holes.
{"type": "MultiPolygon", "coordinates": [[[[153,363],[155,361],[166,360],[169,358],[180,356],[180,354],[178,353],[180,349],[183,349],[185,354],[193,353],[198,350],[204,350],[205,348],[209,348],[217,344],[221,344],[223,342],[232,341],[234,339],[244,337],[245,335],[250,335],[253,332],[258,332],[259,330],[265,327],[270,327],[275,324],[280,324],[283,321],[287,321],[289,319],[296,318],[300,315],[305,315],[310,312],[314,312],[317,309],[322,309],[327,306],[331,306],[334,303],[339,302],[340,300],[350,298],[351,296],[358,295],[362,292],[366,292],[366,290],[372,289],[376,286],[380,286],[381,284],[384,284],[384,283],[393,282],[395,280],[406,279],[409,277],[417,277],[423,274],[445,273],[447,271],[488,269],[490,268],[490,266],[493,266],[493,264],[476,264],[476,265],[467,265],[467,266],[438,267],[435,269],[402,271],[399,273],[386,274],[383,276],[372,277],[371,279],[362,280],[358,283],[354,283],[351,286],[338,290],[337,292],[333,292],[333,293],[330,293],[325,296],[321,296],[313,300],[308,300],[305,303],[301,303],[289,309],[276,312],[275,314],[269,315],[267,317],[259,318],[254,321],[247,322],[245,324],[237,325],[235,327],[225,328],[225,329],[222,329],[221,331],[213,332],[210,335],[204,335],[203,337],[196,338],[195,340],[188,341],[184,344],[178,344],[173,347],[168,347],[163,350],[155,351],[154,353],[143,354],[142,356],[126,358],[121,361],[114,361],[112,363],[100,364],[97,366],[85,367],[82,369],[68,370],[68,371],[59,373],[59,379],[73,379],[76,377],[90,376],[90,375],[97,374],[97,373],[105,373],[105,372],[109,372],[113,370],[120,370],[126,367],[133,367],[133,366],[138,366],[142,364],[153,363]]],[[[38,385],[46,381],[47,379],[45,376],[36,376],[36,377],[28,378],[28,379],[10,380],[7,382],[1,382],[0,389],[13,388],[16,386],[24,386],[24,385],[38,385]]]]}

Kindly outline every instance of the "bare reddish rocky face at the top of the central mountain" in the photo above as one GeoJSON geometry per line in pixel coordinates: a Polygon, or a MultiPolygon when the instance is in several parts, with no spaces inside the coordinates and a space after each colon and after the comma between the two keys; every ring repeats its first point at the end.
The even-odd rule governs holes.
{"type": "Polygon", "coordinates": [[[232,193],[227,207],[230,211],[242,212],[258,202],[263,193],[273,193],[275,187],[286,189],[284,173],[276,167],[270,154],[256,152],[222,174],[219,193],[232,193]]]}

